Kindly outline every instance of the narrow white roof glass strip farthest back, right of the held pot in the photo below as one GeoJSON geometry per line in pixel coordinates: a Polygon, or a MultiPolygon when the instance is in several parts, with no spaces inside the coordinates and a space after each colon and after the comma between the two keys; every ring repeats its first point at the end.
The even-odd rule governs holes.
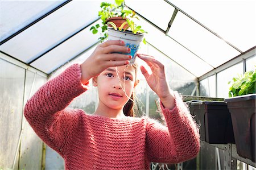
{"type": "Polygon", "coordinates": [[[193,73],[196,77],[200,77],[213,69],[213,67],[210,67],[210,65],[199,59],[199,57],[193,55],[188,49],[185,49],[175,40],[165,36],[142,18],[140,18],[140,25],[148,32],[145,36],[147,42],[152,44],[155,48],[158,48],[172,60],[176,61],[176,63],[180,64],[184,69],[193,73]]]}

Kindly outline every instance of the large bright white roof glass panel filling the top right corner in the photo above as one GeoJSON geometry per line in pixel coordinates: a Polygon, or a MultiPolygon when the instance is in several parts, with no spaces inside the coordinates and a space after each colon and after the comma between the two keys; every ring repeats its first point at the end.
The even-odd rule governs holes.
{"type": "Polygon", "coordinates": [[[255,1],[169,1],[243,52],[256,44],[255,1]]]}

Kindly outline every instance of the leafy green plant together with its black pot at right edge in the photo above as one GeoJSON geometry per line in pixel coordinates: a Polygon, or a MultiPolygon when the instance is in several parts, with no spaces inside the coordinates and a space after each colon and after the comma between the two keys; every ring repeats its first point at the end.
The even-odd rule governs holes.
{"type": "Polygon", "coordinates": [[[238,155],[255,162],[255,83],[256,69],[234,77],[228,103],[238,155]]]}

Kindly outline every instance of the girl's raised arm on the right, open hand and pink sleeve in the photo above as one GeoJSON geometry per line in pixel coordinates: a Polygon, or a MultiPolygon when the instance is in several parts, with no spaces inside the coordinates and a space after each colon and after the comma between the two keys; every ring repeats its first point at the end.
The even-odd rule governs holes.
{"type": "Polygon", "coordinates": [[[142,74],[150,88],[158,95],[167,127],[154,121],[147,125],[147,154],[151,161],[178,163],[192,159],[200,150],[199,129],[179,94],[167,83],[164,65],[154,57],[138,55],[150,67],[143,66],[142,74]]]}

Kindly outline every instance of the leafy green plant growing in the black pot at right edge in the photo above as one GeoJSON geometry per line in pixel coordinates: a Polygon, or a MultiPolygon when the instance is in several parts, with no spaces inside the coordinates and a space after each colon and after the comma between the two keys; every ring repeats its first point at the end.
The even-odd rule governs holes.
{"type": "Polygon", "coordinates": [[[245,72],[243,75],[238,74],[229,84],[229,97],[242,96],[245,94],[255,93],[256,69],[254,71],[245,72]]]}

